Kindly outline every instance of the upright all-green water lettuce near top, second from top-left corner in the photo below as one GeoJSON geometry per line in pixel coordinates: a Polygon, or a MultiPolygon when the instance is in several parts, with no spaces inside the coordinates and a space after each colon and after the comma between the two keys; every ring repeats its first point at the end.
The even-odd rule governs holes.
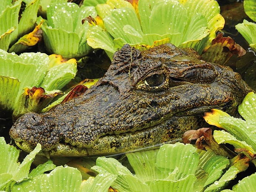
{"type": "Polygon", "coordinates": [[[91,51],[86,41],[89,25],[82,20],[96,14],[93,6],[51,3],[47,8],[47,20],[41,27],[47,51],[64,58],[81,58],[88,54],[91,51]]]}

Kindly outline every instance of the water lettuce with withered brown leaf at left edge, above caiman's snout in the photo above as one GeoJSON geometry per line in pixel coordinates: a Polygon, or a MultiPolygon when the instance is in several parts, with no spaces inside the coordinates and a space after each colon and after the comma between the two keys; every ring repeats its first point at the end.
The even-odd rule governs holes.
{"type": "Polygon", "coordinates": [[[76,75],[76,60],[40,52],[19,56],[0,49],[1,116],[41,112],[76,75]]]}

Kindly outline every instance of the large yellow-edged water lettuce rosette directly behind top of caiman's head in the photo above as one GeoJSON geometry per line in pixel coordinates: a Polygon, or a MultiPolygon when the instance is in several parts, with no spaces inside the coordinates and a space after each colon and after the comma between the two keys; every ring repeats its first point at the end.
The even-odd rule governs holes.
{"type": "Polygon", "coordinates": [[[92,48],[105,49],[109,58],[127,43],[149,47],[170,42],[202,53],[224,25],[214,0],[130,2],[84,1],[86,6],[95,6],[99,16],[91,22],[87,42],[92,48]]]}

